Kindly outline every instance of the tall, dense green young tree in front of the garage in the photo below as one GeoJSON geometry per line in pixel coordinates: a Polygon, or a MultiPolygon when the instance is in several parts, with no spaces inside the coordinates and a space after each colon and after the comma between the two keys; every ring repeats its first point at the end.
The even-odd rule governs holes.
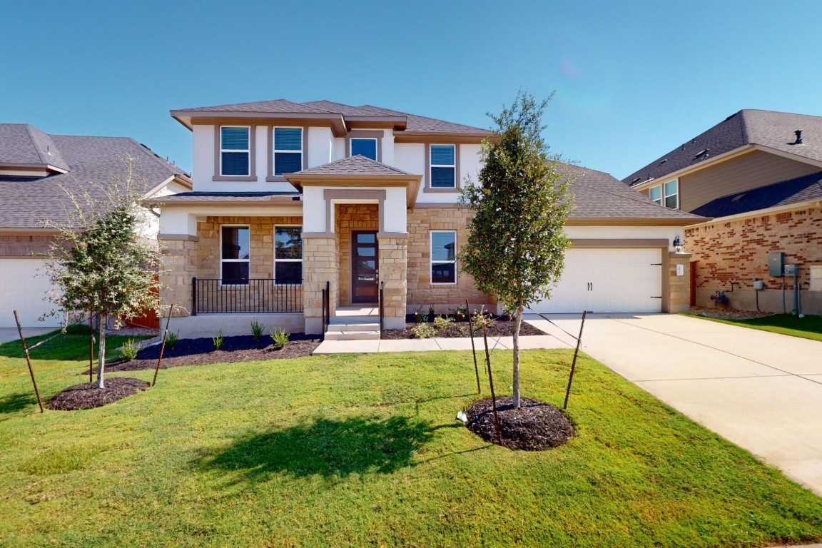
{"type": "Polygon", "coordinates": [[[462,269],[477,287],[504,302],[514,318],[514,405],[520,407],[520,324],[525,306],[548,297],[565,266],[570,242],[563,232],[570,212],[571,174],[548,155],[541,135],[547,99],[520,91],[483,143],[478,184],[468,182],[460,201],[473,208],[462,269]]]}

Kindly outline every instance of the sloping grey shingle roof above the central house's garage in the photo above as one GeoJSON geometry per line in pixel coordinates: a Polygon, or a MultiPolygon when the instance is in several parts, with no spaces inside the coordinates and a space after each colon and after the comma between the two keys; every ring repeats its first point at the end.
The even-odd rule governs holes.
{"type": "Polygon", "coordinates": [[[609,173],[577,166],[567,166],[567,169],[572,177],[570,193],[574,196],[571,223],[589,219],[603,224],[647,221],[686,226],[707,220],[658,205],[609,173]]]}

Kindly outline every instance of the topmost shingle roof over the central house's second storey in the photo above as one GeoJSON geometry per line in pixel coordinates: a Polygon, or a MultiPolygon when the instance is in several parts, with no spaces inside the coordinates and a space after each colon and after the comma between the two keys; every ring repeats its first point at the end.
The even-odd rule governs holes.
{"type": "Polygon", "coordinates": [[[177,118],[187,127],[186,122],[192,114],[205,115],[207,113],[249,113],[249,114],[306,114],[306,115],[338,115],[343,118],[373,119],[386,118],[399,122],[398,131],[409,133],[448,133],[466,135],[491,135],[491,131],[481,127],[466,126],[454,122],[446,122],[432,117],[418,116],[390,110],[389,108],[375,107],[364,104],[358,107],[335,103],[328,100],[306,101],[295,103],[287,99],[275,99],[271,101],[256,101],[253,103],[223,104],[214,107],[180,108],[172,111],[172,116],[177,118]]]}

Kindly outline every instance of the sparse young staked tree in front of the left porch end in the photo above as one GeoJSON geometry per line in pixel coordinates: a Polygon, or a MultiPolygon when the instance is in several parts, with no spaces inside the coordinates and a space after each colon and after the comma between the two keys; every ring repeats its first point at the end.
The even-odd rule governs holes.
{"type": "Polygon", "coordinates": [[[106,320],[158,309],[155,274],[159,247],[150,240],[149,210],[140,205],[149,184],[136,177],[136,160],[127,158],[123,177],[101,184],[63,186],[72,201],[66,223],[56,228],[48,252],[48,278],[60,288],[50,300],[67,315],[90,312],[99,325],[97,388],[103,389],[106,320]],[[79,190],[78,190],[79,188],[79,190]]]}

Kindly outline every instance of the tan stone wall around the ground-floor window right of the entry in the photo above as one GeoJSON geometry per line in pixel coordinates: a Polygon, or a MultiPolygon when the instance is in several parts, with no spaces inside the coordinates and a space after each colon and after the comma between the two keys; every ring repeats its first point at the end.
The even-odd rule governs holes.
{"type": "Polygon", "coordinates": [[[457,261],[457,283],[443,285],[431,283],[431,236],[432,230],[455,230],[457,252],[468,240],[465,225],[472,213],[466,207],[420,207],[408,213],[408,309],[414,311],[420,306],[427,311],[434,305],[437,313],[444,313],[469,300],[470,304],[491,305],[491,297],[480,292],[469,274],[459,271],[457,261]]]}

